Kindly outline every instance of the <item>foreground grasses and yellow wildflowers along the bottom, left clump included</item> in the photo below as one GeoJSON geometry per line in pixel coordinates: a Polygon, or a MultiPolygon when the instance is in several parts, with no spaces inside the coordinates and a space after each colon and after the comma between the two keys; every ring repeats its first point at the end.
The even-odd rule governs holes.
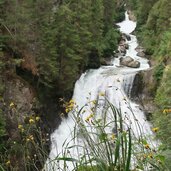
{"type": "MultiPolygon", "coordinates": [[[[54,159],[49,158],[47,137],[38,126],[41,119],[31,115],[24,123],[18,121],[19,138],[8,140],[4,154],[1,154],[0,170],[18,171],[22,167],[26,171],[38,171],[45,161],[48,171],[168,170],[162,151],[142,133],[143,127],[136,117],[138,136],[121,109],[110,103],[104,94],[101,93],[98,100],[88,101],[81,109],[73,100],[64,104],[75,123],[71,129],[73,136],[64,141],[62,152],[54,159]]],[[[16,110],[14,104],[10,108],[16,110]]],[[[134,115],[131,108],[130,111],[134,115]]]]}

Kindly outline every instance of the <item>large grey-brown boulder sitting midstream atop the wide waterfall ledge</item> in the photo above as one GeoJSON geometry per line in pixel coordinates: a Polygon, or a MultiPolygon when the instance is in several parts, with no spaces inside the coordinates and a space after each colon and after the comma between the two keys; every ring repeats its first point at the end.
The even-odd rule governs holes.
{"type": "Polygon", "coordinates": [[[124,66],[131,67],[131,68],[139,68],[140,62],[134,60],[130,56],[126,56],[125,58],[124,57],[120,58],[120,65],[124,65],[124,66]]]}

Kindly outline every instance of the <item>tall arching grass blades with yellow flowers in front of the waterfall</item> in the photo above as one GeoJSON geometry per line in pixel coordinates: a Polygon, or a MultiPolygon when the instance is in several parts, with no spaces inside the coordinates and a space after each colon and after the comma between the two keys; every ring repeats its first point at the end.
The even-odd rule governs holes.
{"type": "MultiPolygon", "coordinates": [[[[116,108],[107,98],[89,101],[80,110],[78,106],[70,103],[66,108],[67,106],[70,110],[71,106],[73,107],[69,115],[75,122],[74,129],[71,130],[74,135],[71,141],[74,141],[75,145],[71,146],[70,141],[67,141],[63,145],[63,156],[56,157],[56,161],[65,163],[61,170],[167,170],[164,157],[153,144],[154,140],[149,141],[148,134],[142,133],[141,123],[137,122],[135,117],[139,129],[137,136],[127,122],[129,116],[125,119],[121,109],[116,108]],[[99,103],[101,100],[103,106],[99,103]],[[72,150],[75,149],[78,153],[72,155],[72,150]],[[72,169],[67,167],[68,163],[72,163],[72,169]]],[[[130,111],[134,115],[131,109],[130,111]]]]}

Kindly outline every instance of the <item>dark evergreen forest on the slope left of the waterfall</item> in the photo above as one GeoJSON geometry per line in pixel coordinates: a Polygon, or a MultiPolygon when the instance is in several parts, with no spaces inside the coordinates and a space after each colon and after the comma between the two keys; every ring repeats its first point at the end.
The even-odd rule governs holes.
{"type": "Polygon", "coordinates": [[[23,115],[42,110],[45,121],[47,113],[54,120],[58,99],[71,97],[80,74],[113,55],[120,38],[115,23],[124,17],[123,5],[120,0],[0,0],[0,153],[13,160],[14,169],[21,167],[23,155],[15,158],[17,150],[10,152],[11,129],[18,133],[23,115]],[[18,87],[23,83],[33,90],[32,111],[18,110],[21,102],[9,95],[15,94],[16,80],[18,87]]]}

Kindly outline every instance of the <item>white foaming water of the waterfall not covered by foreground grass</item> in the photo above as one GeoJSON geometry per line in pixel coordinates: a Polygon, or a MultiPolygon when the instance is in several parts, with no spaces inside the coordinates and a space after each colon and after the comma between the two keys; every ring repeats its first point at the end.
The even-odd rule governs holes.
{"type": "MultiPolygon", "coordinates": [[[[113,66],[105,66],[96,70],[89,70],[86,73],[82,74],[80,79],[75,84],[73,99],[76,104],[81,108],[88,101],[96,100],[99,98],[99,92],[104,92],[108,100],[114,104],[116,107],[120,107],[123,117],[127,118],[127,124],[131,125],[131,128],[134,130],[135,135],[139,135],[140,132],[137,130],[137,124],[135,120],[138,120],[143,128],[143,134],[152,134],[150,130],[150,124],[146,122],[146,118],[142,110],[140,110],[139,105],[131,102],[127,96],[130,94],[134,76],[140,70],[145,70],[149,68],[148,60],[138,57],[135,51],[135,48],[138,46],[136,36],[131,35],[130,33],[135,29],[136,22],[130,21],[126,13],[125,21],[118,23],[120,26],[120,31],[131,36],[131,40],[127,41],[129,44],[129,49],[127,50],[126,56],[131,56],[134,59],[138,60],[141,65],[140,68],[133,69],[128,67],[118,67],[119,59],[113,60],[113,66]],[[89,99],[88,99],[88,98],[89,99]],[[132,109],[134,115],[132,114],[130,108],[132,109]]],[[[103,98],[103,97],[100,97],[103,98]]],[[[101,101],[103,105],[103,101],[101,101]]],[[[99,109],[100,110],[100,109],[99,109]]],[[[58,171],[62,170],[63,162],[50,162],[55,159],[57,156],[61,157],[63,153],[63,144],[69,143],[69,146],[81,144],[81,138],[78,138],[77,142],[70,141],[73,136],[73,129],[75,126],[72,117],[69,114],[67,119],[63,119],[61,125],[57,130],[51,135],[51,152],[49,159],[46,162],[45,170],[46,171],[58,171]]],[[[88,116],[88,112],[85,112],[83,115],[83,120],[88,116]]],[[[101,118],[101,112],[99,112],[98,118],[101,118]]],[[[108,116],[110,119],[110,116],[108,116]]],[[[85,122],[85,125],[87,123],[85,122]]],[[[112,132],[111,129],[108,130],[112,132]]],[[[80,151],[77,151],[78,148],[70,149],[68,156],[74,158],[79,158],[80,151]]],[[[80,154],[81,155],[81,154],[80,154]]],[[[70,163],[67,163],[68,171],[73,169],[73,166],[70,163]]]]}

